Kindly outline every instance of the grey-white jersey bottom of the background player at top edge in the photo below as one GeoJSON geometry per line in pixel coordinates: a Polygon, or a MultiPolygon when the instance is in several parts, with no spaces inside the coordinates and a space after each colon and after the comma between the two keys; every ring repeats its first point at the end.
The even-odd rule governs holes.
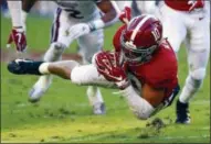
{"type": "Polygon", "coordinates": [[[101,0],[56,0],[55,2],[61,9],[67,12],[68,19],[87,20],[99,13],[99,9],[97,8],[96,3],[101,2],[101,0]]]}

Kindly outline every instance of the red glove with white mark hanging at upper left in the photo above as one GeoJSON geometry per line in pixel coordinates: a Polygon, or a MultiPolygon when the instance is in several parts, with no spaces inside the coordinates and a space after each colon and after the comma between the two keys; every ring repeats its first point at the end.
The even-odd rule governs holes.
{"type": "Polygon", "coordinates": [[[11,47],[12,42],[14,42],[18,52],[24,52],[27,49],[27,37],[22,27],[12,29],[7,47],[11,47]]]}

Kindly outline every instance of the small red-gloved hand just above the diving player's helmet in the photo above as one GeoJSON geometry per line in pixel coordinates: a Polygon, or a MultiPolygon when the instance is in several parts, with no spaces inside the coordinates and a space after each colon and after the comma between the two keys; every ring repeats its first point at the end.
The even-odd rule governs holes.
{"type": "Polygon", "coordinates": [[[124,11],[120,13],[118,18],[123,23],[129,23],[131,19],[131,9],[129,7],[125,7],[124,11]]]}

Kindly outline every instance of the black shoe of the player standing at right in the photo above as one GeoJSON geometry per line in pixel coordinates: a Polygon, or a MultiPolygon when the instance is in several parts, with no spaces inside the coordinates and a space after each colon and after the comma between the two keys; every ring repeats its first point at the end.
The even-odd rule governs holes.
{"type": "Polygon", "coordinates": [[[176,109],[177,109],[176,123],[189,124],[191,121],[189,112],[189,103],[182,103],[178,100],[176,109]]]}

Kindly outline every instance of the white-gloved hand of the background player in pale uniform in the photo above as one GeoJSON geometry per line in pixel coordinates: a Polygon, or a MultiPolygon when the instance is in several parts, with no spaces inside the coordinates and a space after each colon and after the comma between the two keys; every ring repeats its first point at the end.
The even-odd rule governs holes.
{"type": "Polygon", "coordinates": [[[70,27],[68,33],[70,33],[70,40],[76,40],[82,35],[88,34],[91,32],[91,27],[86,23],[80,23],[75,24],[70,27]]]}

